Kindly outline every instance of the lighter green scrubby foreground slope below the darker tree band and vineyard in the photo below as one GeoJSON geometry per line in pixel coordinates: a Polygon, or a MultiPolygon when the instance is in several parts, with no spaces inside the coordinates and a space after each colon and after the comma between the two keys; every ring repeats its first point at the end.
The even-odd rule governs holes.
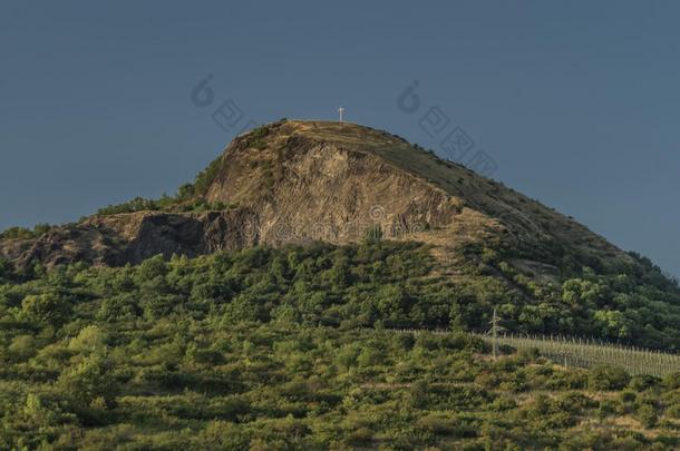
{"type": "Polygon", "coordinates": [[[680,445],[677,378],[631,381],[528,355],[494,363],[458,335],[186,320],[136,327],[98,325],[42,352],[37,361],[69,356],[55,385],[6,374],[2,448],[680,445]],[[182,330],[194,331],[184,343],[182,330]]]}

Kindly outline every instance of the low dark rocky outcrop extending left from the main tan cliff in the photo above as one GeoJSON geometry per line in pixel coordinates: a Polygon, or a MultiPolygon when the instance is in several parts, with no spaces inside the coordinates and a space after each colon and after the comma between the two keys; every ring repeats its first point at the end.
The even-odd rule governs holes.
{"type": "Polygon", "coordinates": [[[12,241],[0,252],[19,266],[31,262],[120,266],[158,254],[193,257],[255,245],[258,236],[244,234],[253,220],[244,210],[120,214],[58,227],[36,241],[12,241]]]}

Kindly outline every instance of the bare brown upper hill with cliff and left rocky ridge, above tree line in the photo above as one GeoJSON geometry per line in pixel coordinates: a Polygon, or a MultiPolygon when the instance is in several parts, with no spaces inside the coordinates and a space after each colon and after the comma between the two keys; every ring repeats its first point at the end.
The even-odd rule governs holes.
{"type": "Polygon", "coordinates": [[[555,258],[555,246],[628,258],[537,202],[401,138],[349,124],[283,121],[237,137],[206,200],[230,208],[91,217],[36,241],[0,243],[0,256],[19,265],[123,265],[256,244],[342,244],[379,226],[389,238],[433,243],[439,256],[466,243],[502,239],[533,255],[543,252],[544,263],[555,258]]]}

